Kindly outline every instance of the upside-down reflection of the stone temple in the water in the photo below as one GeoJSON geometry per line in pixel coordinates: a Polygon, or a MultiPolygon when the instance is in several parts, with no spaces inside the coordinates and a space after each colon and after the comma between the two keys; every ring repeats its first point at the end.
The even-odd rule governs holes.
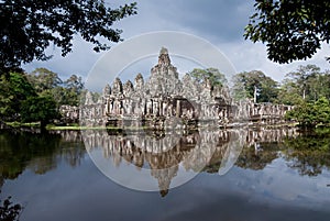
{"type": "Polygon", "coordinates": [[[296,135],[292,129],[179,132],[90,130],[84,131],[84,140],[89,153],[101,151],[116,167],[133,165],[138,176],[141,169],[147,169],[165,196],[179,170],[197,174],[211,169],[222,175],[237,163],[243,146],[255,146],[257,152],[258,143],[296,135]]]}

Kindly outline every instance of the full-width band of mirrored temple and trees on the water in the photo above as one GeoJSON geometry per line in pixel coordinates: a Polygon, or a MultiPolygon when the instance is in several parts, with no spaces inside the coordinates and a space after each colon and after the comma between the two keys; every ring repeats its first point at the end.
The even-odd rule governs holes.
{"type": "MultiPolygon", "coordinates": [[[[86,131],[84,139],[88,152],[101,151],[102,158],[111,161],[116,168],[132,165],[138,175],[147,169],[147,176],[156,180],[165,196],[182,172],[221,175],[233,165],[261,170],[278,157],[300,175],[317,176],[330,169],[329,134],[329,131],[300,134],[295,129],[213,130],[169,135],[151,131],[143,134],[86,131]]],[[[25,169],[45,174],[62,161],[77,167],[85,155],[80,132],[0,131],[0,186],[25,169]]]]}

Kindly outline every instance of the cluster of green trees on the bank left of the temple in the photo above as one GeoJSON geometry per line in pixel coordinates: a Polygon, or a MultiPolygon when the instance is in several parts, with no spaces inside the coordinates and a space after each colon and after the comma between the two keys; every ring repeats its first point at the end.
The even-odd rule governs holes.
{"type": "Polygon", "coordinates": [[[63,80],[57,74],[37,68],[32,74],[0,76],[0,117],[6,121],[47,122],[59,117],[62,104],[78,106],[84,93],[81,77],[63,80]]]}

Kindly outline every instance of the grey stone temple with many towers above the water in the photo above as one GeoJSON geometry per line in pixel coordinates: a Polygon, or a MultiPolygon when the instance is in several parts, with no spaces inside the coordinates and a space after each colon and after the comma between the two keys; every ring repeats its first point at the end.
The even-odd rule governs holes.
{"type": "MultiPolygon", "coordinates": [[[[76,109],[81,125],[150,126],[183,129],[217,124],[227,126],[242,120],[270,121],[283,119],[288,107],[233,102],[229,87],[201,84],[186,74],[182,79],[170,64],[168,51],[162,48],[158,63],[144,79],[138,74],[134,82],[116,78],[106,85],[98,101],[87,92],[85,103],[76,109]]],[[[65,112],[65,111],[64,111],[65,112]]],[[[75,111],[74,111],[75,112],[75,111]]],[[[72,112],[66,111],[69,118],[72,112]]]]}

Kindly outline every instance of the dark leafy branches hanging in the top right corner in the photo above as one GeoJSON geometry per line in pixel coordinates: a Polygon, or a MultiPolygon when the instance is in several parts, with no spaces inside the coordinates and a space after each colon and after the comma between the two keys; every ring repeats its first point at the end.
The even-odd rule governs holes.
{"type": "Polygon", "coordinates": [[[322,42],[329,44],[330,1],[255,2],[256,12],[250,16],[244,36],[254,43],[266,43],[271,60],[283,64],[306,59],[321,47],[322,42]]]}

